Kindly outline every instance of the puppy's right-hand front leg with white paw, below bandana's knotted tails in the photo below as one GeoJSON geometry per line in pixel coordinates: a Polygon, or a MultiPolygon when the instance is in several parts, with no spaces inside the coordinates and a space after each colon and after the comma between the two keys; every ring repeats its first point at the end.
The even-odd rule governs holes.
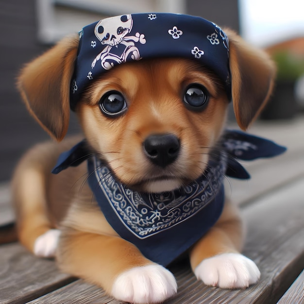
{"type": "Polygon", "coordinates": [[[243,227],[236,207],[226,202],[218,222],[190,252],[196,277],[210,286],[246,288],[260,278],[255,263],[240,253],[243,227]]]}

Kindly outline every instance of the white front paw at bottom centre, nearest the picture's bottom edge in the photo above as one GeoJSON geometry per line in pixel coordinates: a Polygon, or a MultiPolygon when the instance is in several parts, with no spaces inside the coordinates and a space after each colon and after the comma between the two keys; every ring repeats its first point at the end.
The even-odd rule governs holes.
{"type": "Polygon", "coordinates": [[[119,274],[114,281],[112,295],[126,302],[150,304],[163,302],[176,291],[173,274],[160,265],[152,264],[119,274]]]}

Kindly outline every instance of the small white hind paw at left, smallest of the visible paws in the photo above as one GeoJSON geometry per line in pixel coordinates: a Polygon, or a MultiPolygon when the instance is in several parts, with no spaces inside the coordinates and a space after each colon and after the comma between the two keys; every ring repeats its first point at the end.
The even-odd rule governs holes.
{"type": "Polygon", "coordinates": [[[50,229],[38,236],[34,243],[34,254],[40,257],[54,257],[60,236],[60,230],[50,229]]]}

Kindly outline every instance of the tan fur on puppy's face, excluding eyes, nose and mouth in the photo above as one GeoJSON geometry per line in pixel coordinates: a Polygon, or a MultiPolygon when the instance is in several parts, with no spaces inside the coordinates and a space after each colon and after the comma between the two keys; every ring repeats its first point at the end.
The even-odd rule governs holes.
{"type": "Polygon", "coordinates": [[[181,139],[184,149],[174,166],[174,175],[185,183],[198,178],[208,161],[203,153],[209,152],[222,131],[228,103],[223,90],[216,91],[208,85],[210,80],[204,74],[194,72],[198,68],[187,60],[180,60],[178,64],[173,59],[151,60],[118,68],[119,72],[113,68],[105,80],[94,84],[101,88],[97,89],[98,94],[92,88],[78,107],[91,146],[103,153],[102,157],[123,183],[140,187],[144,186],[141,181],[149,172],[157,176],[161,171],[146,161],[141,149],[144,138],[150,134],[171,133],[181,139]],[[109,79],[115,79],[115,84],[108,84],[109,79]],[[202,83],[211,88],[214,97],[210,98],[204,113],[185,111],[180,101],[181,86],[190,83],[202,83]],[[127,113],[115,123],[111,118],[100,119],[100,109],[96,106],[105,92],[114,89],[123,92],[130,102],[127,113]],[[95,99],[94,94],[97,95],[95,99]],[[92,106],[87,106],[86,101],[93,103],[92,106]],[[92,119],[94,123],[91,123],[92,119]]]}

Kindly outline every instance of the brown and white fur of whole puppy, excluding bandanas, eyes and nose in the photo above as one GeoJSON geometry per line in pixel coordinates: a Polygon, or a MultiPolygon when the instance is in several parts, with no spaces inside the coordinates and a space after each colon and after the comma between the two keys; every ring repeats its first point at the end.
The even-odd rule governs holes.
{"type": "MultiPolygon", "coordinates": [[[[269,98],[274,67],[263,52],[231,31],[226,34],[234,111],[240,128],[246,129],[269,98]]],[[[62,40],[26,66],[18,81],[29,111],[58,141],[68,129],[77,49],[78,37],[62,40]]],[[[75,111],[92,153],[122,184],[142,192],[163,192],[187,185],[205,172],[222,134],[228,103],[221,80],[209,68],[190,59],[157,58],[110,69],[86,88],[75,111]],[[183,103],[191,84],[205,88],[208,102],[202,111],[183,103]],[[120,92],[127,106],[114,118],[101,109],[101,97],[112,91],[120,92]],[[168,166],[151,161],[152,152],[144,147],[155,134],[178,138],[178,157],[168,166]]],[[[176,293],[173,275],[118,236],[86,183],[85,164],[51,174],[59,154],[78,141],[38,145],[21,160],[13,181],[20,241],[38,256],[55,255],[63,271],[118,299],[164,301],[176,293]]],[[[224,288],[256,283],[259,270],[240,253],[242,243],[238,213],[226,201],[220,219],[189,250],[197,278],[224,288]]]]}

